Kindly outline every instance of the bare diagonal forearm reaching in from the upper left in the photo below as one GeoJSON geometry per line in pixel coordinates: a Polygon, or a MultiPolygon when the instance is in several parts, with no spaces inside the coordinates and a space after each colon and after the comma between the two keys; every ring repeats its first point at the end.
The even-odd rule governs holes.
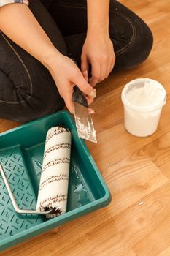
{"type": "Polygon", "coordinates": [[[46,67],[54,52],[56,56],[56,48],[26,4],[1,7],[0,20],[0,30],[46,67]]]}

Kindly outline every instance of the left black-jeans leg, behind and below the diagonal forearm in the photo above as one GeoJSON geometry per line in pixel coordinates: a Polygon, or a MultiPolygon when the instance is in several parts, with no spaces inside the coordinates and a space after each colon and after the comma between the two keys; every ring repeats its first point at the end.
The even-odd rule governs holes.
{"type": "MultiPolygon", "coordinates": [[[[31,1],[30,9],[55,47],[66,53],[64,39],[45,7],[31,1]]],[[[26,122],[63,108],[50,72],[33,56],[0,33],[0,117],[26,122]]]]}

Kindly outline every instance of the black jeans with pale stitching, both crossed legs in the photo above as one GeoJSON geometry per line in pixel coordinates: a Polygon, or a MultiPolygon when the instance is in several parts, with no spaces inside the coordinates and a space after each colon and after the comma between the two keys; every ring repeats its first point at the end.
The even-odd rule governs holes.
{"type": "MultiPolygon", "coordinates": [[[[36,0],[29,7],[53,45],[80,65],[87,31],[86,1],[36,0]]],[[[147,59],[152,48],[150,29],[115,0],[110,0],[109,35],[116,54],[115,72],[147,59]]],[[[50,72],[0,31],[0,118],[26,122],[63,106],[50,72]]]]}

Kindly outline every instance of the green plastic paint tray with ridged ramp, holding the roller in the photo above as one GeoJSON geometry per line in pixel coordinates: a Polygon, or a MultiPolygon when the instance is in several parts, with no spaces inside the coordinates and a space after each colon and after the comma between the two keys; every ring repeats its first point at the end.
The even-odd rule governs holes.
{"type": "Polygon", "coordinates": [[[61,111],[0,134],[0,163],[20,209],[34,210],[41,175],[45,137],[50,127],[72,133],[67,212],[53,219],[18,214],[0,176],[0,251],[65,222],[107,206],[109,189],[69,113],[61,111]]]}

